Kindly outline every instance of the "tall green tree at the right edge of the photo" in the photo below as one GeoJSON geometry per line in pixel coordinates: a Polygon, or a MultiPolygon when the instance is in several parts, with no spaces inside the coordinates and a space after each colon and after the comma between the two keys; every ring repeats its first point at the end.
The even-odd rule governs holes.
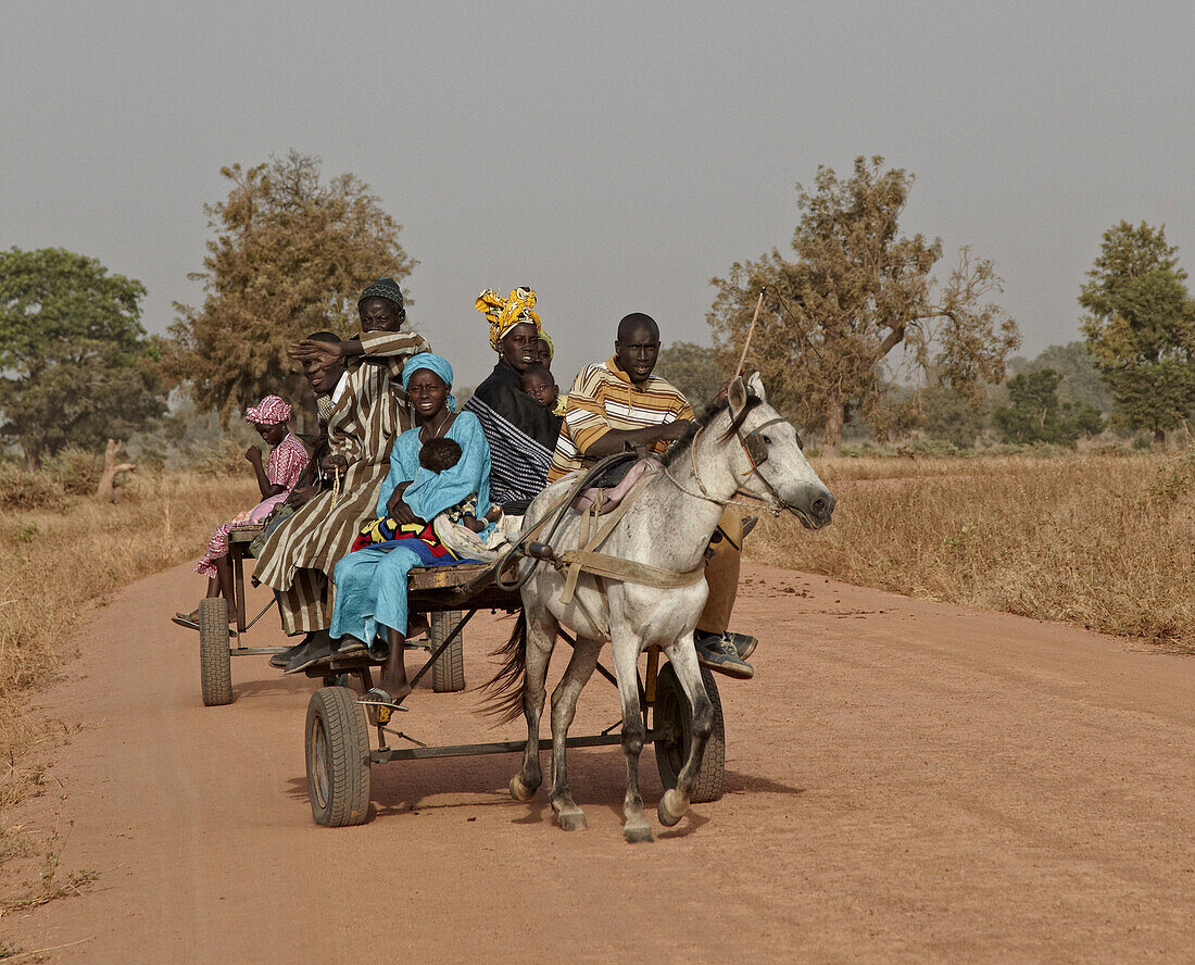
{"type": "Polygon", "coordinates": [[[1121,221],[1104,232],[1079,292],[1115,422],[1159,442],[1195,405],[1195,305],[1185,280],[1165,227],[1121,221]]]}

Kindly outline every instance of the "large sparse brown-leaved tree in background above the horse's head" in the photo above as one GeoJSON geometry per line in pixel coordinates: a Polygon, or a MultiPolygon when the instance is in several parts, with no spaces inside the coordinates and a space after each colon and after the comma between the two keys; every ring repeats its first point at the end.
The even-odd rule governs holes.
{"type": "Polygon", "coordinates": [[[901,367],[919,375],[933,366],[943,384],[978,401],[1021,342],[1016,323],[986,303],[1001,283],[992,262],[963,248],[939,285],[930,273],[942,240],[899,233],[912,184],[906,171],[883,170],[881,157],[857,158],[847,181],[819,167],[813,191],[797,185],[796,259],[773,249],[712,281],[718,295],[706,319],[722,354],[736,360],[766,287],[747,367],[760,369],[770,401],[821,429],[826,453],[840,450],[852,415],[877,435],[891,429],[884,385],[897,347],[901,367]]]}

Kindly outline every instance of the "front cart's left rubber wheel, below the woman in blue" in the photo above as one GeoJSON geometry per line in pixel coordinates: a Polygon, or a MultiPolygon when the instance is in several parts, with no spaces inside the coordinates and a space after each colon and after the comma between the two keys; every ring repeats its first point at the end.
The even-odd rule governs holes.
{"type": "Polygon", "coordinates": [[[307,795],[325,827],[369,819],[369,732],[347,686],[317,690],[307,704],[307,795]]]}

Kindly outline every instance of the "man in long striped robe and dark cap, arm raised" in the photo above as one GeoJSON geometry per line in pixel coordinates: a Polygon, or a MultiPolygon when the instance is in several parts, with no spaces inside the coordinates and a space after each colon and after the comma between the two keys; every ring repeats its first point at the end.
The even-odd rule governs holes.
{"type": "Polygon", "coordinates": [[[360,338],[338,343],[305,338],[290,349],[292,358],[308,365],[331,365],[338,358],[348,361],[344,391],[327,420],[329,448],[343,460],[339,485],[286,519],[266,539],[253,572],[258,582],[277,591],[286,633],[306,635],[286,654],[290,672],[332,649],[327,575],[373,518],[378,491],[390,471],[391,446],[411,427],[403,366],[412,355],[430,352],[422,335],[400,331],[406,311],[392,279],[366,288],[357,311],[360,338]]]}

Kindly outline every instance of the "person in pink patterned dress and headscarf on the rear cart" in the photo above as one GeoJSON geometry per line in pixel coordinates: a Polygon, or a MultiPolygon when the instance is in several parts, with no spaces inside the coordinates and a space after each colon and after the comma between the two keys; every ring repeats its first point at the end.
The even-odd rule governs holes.
{"type": "MultiPolygon", "coordinates": [[[[250,446],[245,451],[245,458],[257,475],[257,488],[262,494],[262,501],[251,509],[239,513],[231,523],[216,526],[207,552],[195,566],[196,573],[208,578],[209,598],[223,597],[228,600],[233,598],[232,562],[228,560],[228,533],[233,526],[261,523],[265,519],[275,506],[287,499],[311,458],[304,444],[290,432],[290,405],[277,396],[266,396],[249,409],[245,413],[245,421],[257,429],[257,434],[272,448],[264,462],[261,446],[250,446]]],[[[179,612],[174,615],[173,621],[180,627],[198,629],[198,609],[190,613],[179,612]]]]}

